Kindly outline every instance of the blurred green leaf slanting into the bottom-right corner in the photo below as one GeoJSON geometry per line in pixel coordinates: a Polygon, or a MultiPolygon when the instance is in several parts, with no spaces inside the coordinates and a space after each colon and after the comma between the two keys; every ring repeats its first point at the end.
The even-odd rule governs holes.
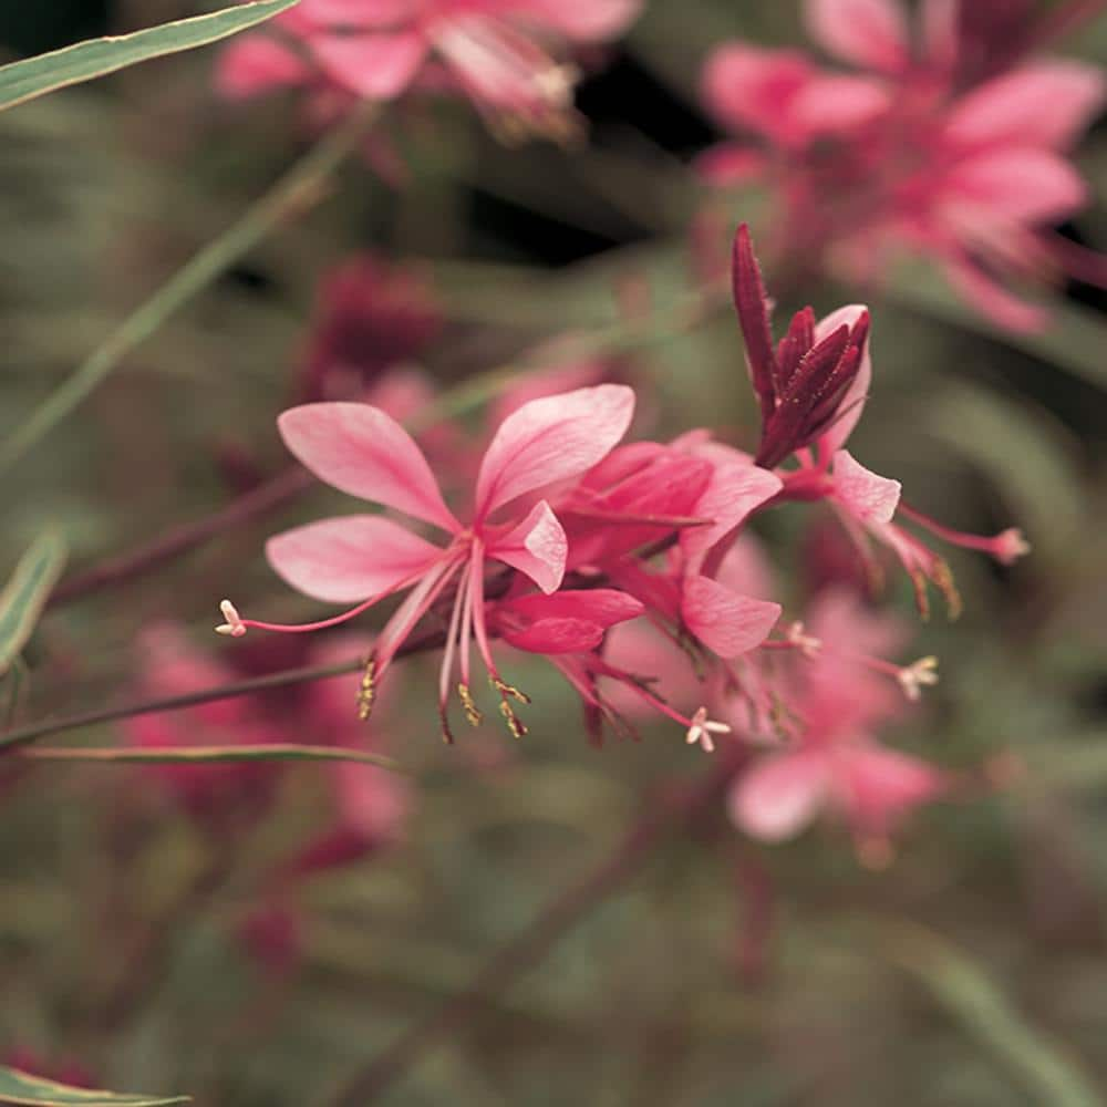
{"type": "Polygon", "coordinates": [[[1063,1043],[1026,1022],[964,951],[912,922],[881,923],[880,937],[890,959],[987,1047],[1034,1103],[1097,1107],[1105,1101],[1063,1043]]]}

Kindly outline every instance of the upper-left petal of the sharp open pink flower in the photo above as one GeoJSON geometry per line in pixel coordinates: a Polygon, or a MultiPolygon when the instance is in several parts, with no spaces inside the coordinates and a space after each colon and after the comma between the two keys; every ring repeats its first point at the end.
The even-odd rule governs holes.
{"type": "Polygon", "coordinates": [[[303,404],[277,420],[284,445],[341,492],[457,531],[431,466],[411,435],[370,404],[303,404]]]}

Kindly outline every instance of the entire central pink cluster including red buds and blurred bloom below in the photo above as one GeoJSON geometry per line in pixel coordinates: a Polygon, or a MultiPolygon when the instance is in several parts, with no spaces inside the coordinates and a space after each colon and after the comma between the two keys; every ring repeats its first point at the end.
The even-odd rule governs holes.
{"type": "Polygon", "coordinates": [[[476,465],[468,510],[458,516],[420,446],[380,407],[293,407],[278,426],[296,457],[327,484],[404,521],[354,514],[275,536],[268,558],[289,584],[353,606],[317,622],[279,624],[244,619],[224,601],[220,633],[321,631],[406,593],[369,651],[358,694],[362,718],[405,652],[439,648],[446,741],[454,741],[452,701],[472,725],[482,722],[474,652],[508,730],[521,737],[530,700],[501,672],[497,655],[506,645],[542,654],[560,670],[596,741],[604,723],[632,731],[629,721],[644,710],[679,723],[690,743],[707,751],[734,730],[755,742],[768,737],[780,749],[746,778],[733,805],[753,832],[779,837],[827,803],[849,810],[859,837],[881,839],[898,813],[942,790],[941,774],[880,749],[871,737],[879,721],[934,683],[933,659],[886,660],[883,648],[897,635],[855,611],[856,602],[772,637],[782,607],[765,573],[751,576],[746,524],[769,506],[825,501],[859,559],[872,542],[888,547],[914,581],[920,607],[933,583],[953,613],[949,569],[900,516],[1003,562],[1026,546],[1015,530],[980,538],[933,524],[900,504],[897,482],[845,448],[872,376],[863,307],[824,320],[805,309],[774,342],[746,227],[735,237],[733,275],[762,415],[754,453],[704,430],[668,443],[623,443],[634,393],[622,384],[540,395],[509,408],[476,465]],[[668,660],[664,651],[628,653],[627,634],[611,633],[622,624],[651,628],[668,660]],[[799,666],[798,676],[778,672],[774,659],[782,652],[799,666]],[[674,695],[666,685],[682,668],[689,680],[674,695]],[[779,801],[766,798],[782,789],[779,801]]]}

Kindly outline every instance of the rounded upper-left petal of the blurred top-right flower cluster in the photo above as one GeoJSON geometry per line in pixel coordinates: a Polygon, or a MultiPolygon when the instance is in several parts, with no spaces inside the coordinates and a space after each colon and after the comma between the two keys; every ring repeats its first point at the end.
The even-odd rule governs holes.
{"type": "Polygon", "coordinates": [[[798,50],[763,50],[727,43],[707,59],[702,96],[707,110],[732,130],[748,127],[779,142],[793,133],[789,106],[811,77],[811,64],[798,50]]]}

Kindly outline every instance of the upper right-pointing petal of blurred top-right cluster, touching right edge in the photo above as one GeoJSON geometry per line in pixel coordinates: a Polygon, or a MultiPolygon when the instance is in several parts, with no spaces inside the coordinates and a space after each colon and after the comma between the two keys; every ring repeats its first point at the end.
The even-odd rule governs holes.
{"type": "Polygon", "coordinates": [[[1092,123],[1105,91],[1104,75],[1095,66],[1035,62],[962,97],[949,117],[945,137],[964,145],[1013,143],[1063,149],[1092,123]]]}

